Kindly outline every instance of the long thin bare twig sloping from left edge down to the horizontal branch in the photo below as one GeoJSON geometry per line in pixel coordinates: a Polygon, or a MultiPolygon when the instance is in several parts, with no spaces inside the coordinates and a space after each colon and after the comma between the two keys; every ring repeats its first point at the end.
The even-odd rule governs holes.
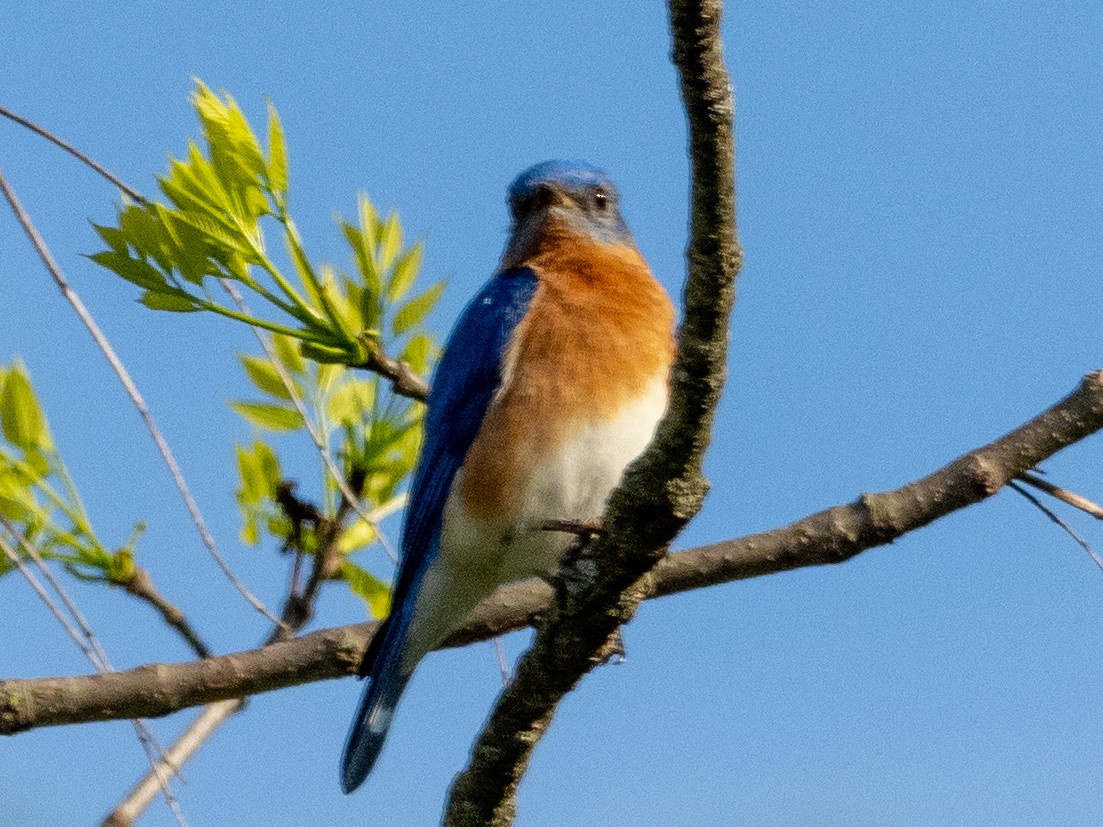
{"type": "Polygon", "coordinates": [[[200,534],[200,539],[202,539],[203,545],[206,546],[211,557],[214,558],[218,568],[222,569],[222,573],[225,574],[231,584],[237,589],[238,593],[240,593],[240,595],[248,601],[249,605],[260,612],[272,623],[279,623],[276,615],[269,612],[265,604],[245,588],[245,584],[238,580],[237,576],[229,568],[229,565],[218,552],[218,547],[215,545],[214,537],[207,530],[206,523],[203,520],[203,515],[200,513],[199,505],[195,503],[195,498],[192,496],[191,490],[188,487],[188,483],[184,480],[183,472],[176,463],[176,458],[173,455],[172,449],[169,448],[169,443],[165,441],[160,429],[157,427],[157,423],[153,421],[153,417],[149,412],[149,407],[146,405],[146,400],[139,393],[138,386],[135,385],[133,379],[130,378],[130,374],[127,372],[121,359],[119,359],[118,355],[115,353],[115,348],[111,347],[110,342],[107,341],[107,336],[104,335],[104,332],[99,329],[96,320],[93,319],[92,313],[88,312],[84,302],[81,301],[81,297],[76,294],[76,291],[73,290],[64,275],[62,275],[61,268],[54,260],[49,247],[46,247],[46,243],[42,239],[42,236],[39,235],[39,230],[31,222],[30,216],[24,212],[23,206],[20,204],[19,198],[15,197],[14,191],[12,191],[11,186],[9,186],[8,180],[4,178],[2,171],[0,171],[0,190],[3,191],[4,197],[8,200],[12,211],[15,213],[15,217],[22,225],[28,238],[31,239],[31,244],[34,245],[34,249],[38,251],[42,262],[53,277],[54,282],[62,292],[62,296],[64,296],[68,303],[73,307],[73,310],[84,323],[84,326],[88,329],[93,340],[95,340],[99,350],[103,352],[104,357],[107,359],[107,363],[111,366],[115,375],[122,384],[127,396],[130,397],[130,400],[138,409],[139,416],[141,416],[142,421],[146,423],[146,428],[149,429],[150,436],[153,438],[153,442],[157,444],[158,451],[160,451],[165,465],[169,468],[172,481],[176,484],[176,488],[180,491],[180,496],[184,501],[184,506],[188,508],[188,513],[191,515],[192,523],[195,524],[195,528],[200,534]]]}

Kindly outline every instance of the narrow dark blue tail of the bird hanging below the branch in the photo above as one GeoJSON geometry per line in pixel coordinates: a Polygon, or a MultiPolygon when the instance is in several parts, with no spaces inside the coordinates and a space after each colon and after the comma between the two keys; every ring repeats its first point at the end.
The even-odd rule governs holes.
{"type": "Polygon", "coordinates": [[[398,698],[410,679],[409,673],[403,672],[403,649],[406,646],[407,624],[399,617],[393,617],[383,633],[383,643],[374,653],[370,647],[364,658],[367,686],[360,701],[360,709],[349,730],[344,755],[341,758],[341,788],[345,793],[364,783],[372,772],[375,760],[383,750],[387,738],[387,729],[394,717],[398,698]],[[374,657],[373,657],[374,655],[374,657]]]}

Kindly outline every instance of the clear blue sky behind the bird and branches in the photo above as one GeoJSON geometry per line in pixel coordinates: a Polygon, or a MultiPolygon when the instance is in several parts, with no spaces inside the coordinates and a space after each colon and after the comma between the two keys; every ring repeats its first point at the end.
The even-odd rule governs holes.
{"type": "MultiPolygon", "coordinates": [[[[732,3],[747,266],[713,492],[679,547],[898,486],[1036,415],[1103,367],[1103,6],[732,3]]],[[[493,271],[505,187],[583,158],[622,192],[672,292],[686,240],[685,125],[660,3],[4,4],[0,103],[126,181],[196,133],[193,75],[283,117],[308,246],[364,190],[447,276],[443,332],[493,271]]],[[[0,122],[0,167],[135,374],[225,554],[269,602],[275,550],[237,545],[225,406],[239,325],[154,314],[81,254],[115,192],[0,122]]],[[[106,365],[0,211],[0,362],[25,359],[100,534],[141,559],[219,652],[263,619],[206,557],[106,365]]],[[[314,469],[297,449],[303,477],[314,469]]],[[[1103,498],[1103,441],[1046,464],[1103,498]]],[[[1062,512],[1063,513],[1063,512],[1062,512]]],[[[1086,517],[1070,519],[1103,547],[1086,517]]],[[[117,666],[186,652],[124,594],[77,588],[117,666]]],[[[317,627],[364,613],[333,588],[317,627]]],[[[1103,574],[1021,497],[845,566],[646,604],[628,660],[569,696],[520,795],[537,825],[1093,825],[1103,812],[1103,574]]],[[[527,637],[506,641],[511,656],[527,637]]],[[[0,676],[86,673],[25,583],[0,581],[0,676]]],[[[343,796],[352,680],[255,699],[186,767],[192,825],[439,818],[500,678],[490,644],[427,659],[376,772],[343,796]]],[[[154,721],[169,741],[191,713],[154,721]]],[[[0,740],[0,825],[88,825],[138,777],[129,724],[0,740]]],[[[173,824],[157,803],[144,825],[173,824]]]]}

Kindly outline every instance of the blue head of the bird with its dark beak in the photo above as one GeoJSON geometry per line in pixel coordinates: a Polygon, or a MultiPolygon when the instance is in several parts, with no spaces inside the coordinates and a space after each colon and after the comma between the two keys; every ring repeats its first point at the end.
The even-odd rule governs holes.
{"type": "Polygon", "coordinates": [[[513,227],[506,256],[518,256],[549,222],[559,222],[601,244],[635,241],[619,208],[617,187],[602,170],[585,161],[544,161],[510,185],[513,227]]]}

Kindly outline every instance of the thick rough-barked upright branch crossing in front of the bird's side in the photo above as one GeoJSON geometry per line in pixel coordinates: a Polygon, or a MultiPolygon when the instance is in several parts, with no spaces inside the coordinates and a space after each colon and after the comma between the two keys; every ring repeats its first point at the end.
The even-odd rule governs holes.
{"type": "Polygon", "coordinates": [[[728,318],[742,262],[736,239],[733,110],[720,41],[720,0],[671,0],[673,60],[689,122],[692,228],[685,321],[670,409],[655,440],[609,501],[604,533],[560,569],[556,594],[516,676],[499,698],[445,823],[508,825],[536,743],[564,695],[615,654],[621,624],[707,491],[700,474],[724,387],[728,318]]]}

